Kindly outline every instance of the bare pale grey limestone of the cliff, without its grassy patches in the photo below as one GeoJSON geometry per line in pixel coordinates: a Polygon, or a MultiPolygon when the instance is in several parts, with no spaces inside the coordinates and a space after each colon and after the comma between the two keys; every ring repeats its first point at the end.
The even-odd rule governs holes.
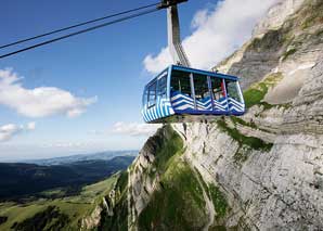
{"type": "Polygon", "coordinates": [[[221,63],[242,77],[244,89],[283,75],[242,120],[225,118],[227,132],[215,124],[186,125],[185,132],[176,126],[194,167],[225,192],[232,207],[227,228],[243,221],[238,227],[251,230],[323,229],[322,9],[322,1],[280,2],[236,52],[240,59],[221,63]],[[232,129],[272,147],[244,149],[232,129]]]}

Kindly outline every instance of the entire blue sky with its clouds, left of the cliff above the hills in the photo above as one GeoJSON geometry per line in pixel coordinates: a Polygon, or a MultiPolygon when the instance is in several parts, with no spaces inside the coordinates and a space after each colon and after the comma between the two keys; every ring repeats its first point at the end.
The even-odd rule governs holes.
{"type": "MultiPolygon", "coordinates": [[[[154,2],[5,1],[1,4],[0,44],[154,2]]],[[[246,31],[236,39],[229,39],[228,49],[219,50],[218,54],[216,48],[210,53],[209,49],[199,49],[193,42],[198,38],[201,43],[211,44],[219,36],[230,36],[230,31],[221,31],[221,28],[218,34],[202,35],[217,31],[212,27],[220,27],[219,16],[231,11],[225,10],[231,2],[234,0],[217,5],[217,0],[191,0],[180,7],[184,47],[189,55],[194,55],[195,66],[206,68],[216,64],[249,38],[261,12],[243,15],[246,31]]],[[[274,0],[266,2],[266,7],[260,8],[263,12],[274,0]]],[[[228,27],[232,27],[231,24],[228,21],[228,27]]],[[[2,88],[4,85],[9,91],[8,99],[0,81],[0,161],[140,149],[155,129],[142,125],[142,89],[154,73],[170,62],[167,51],[163,50],[167,47],[166,31],[166,12],[159,11],[0,60],[2,81],[12,79],[10,84],[2,82],[2,88]],[[39,100],[34,95],[38,92],[35,89],[63,95],[62,101],[67,97],[70,104],[64,107],[59,105],[62,103],[59,100],[55,101],[57,107],[48,108],[52,101],[39,100]],[[29,105],[29,97],[37,102],[29,105]]],[[[11,49],[2,53],[7,51],[11,49]]]]}

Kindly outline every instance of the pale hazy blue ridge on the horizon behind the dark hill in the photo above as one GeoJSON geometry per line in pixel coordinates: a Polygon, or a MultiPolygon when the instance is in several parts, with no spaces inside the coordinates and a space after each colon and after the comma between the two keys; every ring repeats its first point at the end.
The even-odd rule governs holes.
{"type": "Polygon", "coordinates": [[[42,159],[30,159],[24,161],[24,163],[28,164],[37,164],[37,165],[65,165],[72,164],[75,162],[83,162],[83,161],[108,161],[116,156],[135,156],[138,155],[138,150],[129,150],[129,151],[106,151],[94,154],[79,154],[79,155],[70,155],[70,156],[62,156],[54,158],[42,158],[42,159]]]}

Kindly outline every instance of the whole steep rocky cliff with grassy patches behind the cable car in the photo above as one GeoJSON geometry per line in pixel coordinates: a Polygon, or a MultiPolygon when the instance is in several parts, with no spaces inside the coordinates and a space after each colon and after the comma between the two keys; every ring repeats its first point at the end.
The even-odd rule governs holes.
{"type": "Polygon", "coordinates": [[[248,112],[159,129],[106,198],[101,228],[322,230],[322,0],[272,8],[217,66],[242,78],[248,112]]]}

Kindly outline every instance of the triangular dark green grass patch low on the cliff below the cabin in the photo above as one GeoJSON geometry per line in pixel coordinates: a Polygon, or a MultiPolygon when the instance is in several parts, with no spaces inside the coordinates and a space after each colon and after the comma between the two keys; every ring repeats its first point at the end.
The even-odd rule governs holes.
{"type": "Polygon", "coordinates": [[[201,230],[207,221],[205,201],[189,164],[175,158],[160,185],[139,216],[139,230],[201,230]]]}

